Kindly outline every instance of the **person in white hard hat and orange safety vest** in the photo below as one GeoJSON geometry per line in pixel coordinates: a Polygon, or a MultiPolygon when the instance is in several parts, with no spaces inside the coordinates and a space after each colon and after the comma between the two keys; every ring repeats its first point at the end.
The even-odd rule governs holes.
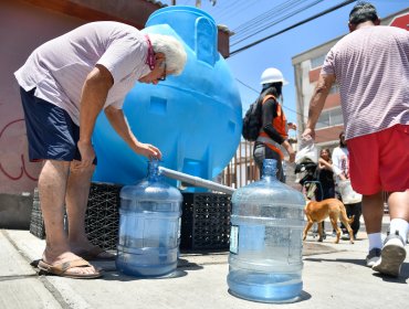
{"type": "Polygon", "coordinates": [[[282,161],[284,151],[290,156],[290,162],[294,162],[295,153],[289,142],[289,128],[295,129],[295,125],[287,124],[284,110],[280,104],[282,102],[282,87],[287,84],[283,74],[274,68],[266,68],[261,75],[262,90],[259,103],[262,104],[262,128],[254,146],[254,161],[262,170],[264,159],[275,159],[277,161],[277,179],[284,182],[284,171],[282,161]]]}

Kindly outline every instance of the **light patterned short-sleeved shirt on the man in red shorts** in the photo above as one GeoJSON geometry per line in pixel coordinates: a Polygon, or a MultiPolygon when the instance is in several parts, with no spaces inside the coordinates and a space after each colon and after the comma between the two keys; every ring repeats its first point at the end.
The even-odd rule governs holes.
{"type": "Polygon", "coordinates": [[[321,74],[335,74],[346,139],[409,124],[409,32],[365,26],[335,44],[321,74]]]}

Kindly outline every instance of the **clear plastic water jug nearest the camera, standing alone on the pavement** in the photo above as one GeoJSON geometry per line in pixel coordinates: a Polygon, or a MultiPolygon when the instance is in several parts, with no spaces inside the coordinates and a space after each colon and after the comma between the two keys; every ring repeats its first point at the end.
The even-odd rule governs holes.
{"type": "Polygon", "coordinates": [[[300,298],[305,200],[276,179],[276,161],[263,161],[260,181],[232,196],[228,285],[237,297],[261,302],[300,298]]]}

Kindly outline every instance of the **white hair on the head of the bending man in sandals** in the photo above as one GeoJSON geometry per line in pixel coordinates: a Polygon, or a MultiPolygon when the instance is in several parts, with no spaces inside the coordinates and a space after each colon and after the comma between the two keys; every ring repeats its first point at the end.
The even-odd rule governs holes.
{"type": "Polygon", "coordinates": [[[149,33],[149,39],[155,53],[164,53],[166,56],[166,66],[174,75],[179,75],[187,61],[187,54],[183,45],[174,36],[149,33]]]}

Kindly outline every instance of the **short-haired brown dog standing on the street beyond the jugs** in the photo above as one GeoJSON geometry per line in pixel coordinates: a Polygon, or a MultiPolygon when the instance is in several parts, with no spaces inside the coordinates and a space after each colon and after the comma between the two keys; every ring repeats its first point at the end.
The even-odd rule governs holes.
{"type": "MultiPolygon", "coordinates": [[[[353,228],[350,228],[349,225],[350,223],[354,222],[354,216],[352,219],[348,219],[345,206],[343,202],[340,202],[339,200],[326,199],[321,202],[307,200],[306,205],[304,207],[304,212],[307,217],[307,224],[304,228],[303,241],[305,241],[307,232],[311,228],[311,226],[313,226],[314,222],[321,223],[329,216],[331,224],[336,231],[336,241],[334,243],[335,244],[339,243],[340,237],[340,228],[338,226],[339,219],[340,222],[344,223],[345,227],[348,230],[350,243],[354,244],[354,233],[353,228]]],[[[322,242],[323,241],[322,224],[318,224],[318,233],[319,233],[318,242],[322,242]]]]}

